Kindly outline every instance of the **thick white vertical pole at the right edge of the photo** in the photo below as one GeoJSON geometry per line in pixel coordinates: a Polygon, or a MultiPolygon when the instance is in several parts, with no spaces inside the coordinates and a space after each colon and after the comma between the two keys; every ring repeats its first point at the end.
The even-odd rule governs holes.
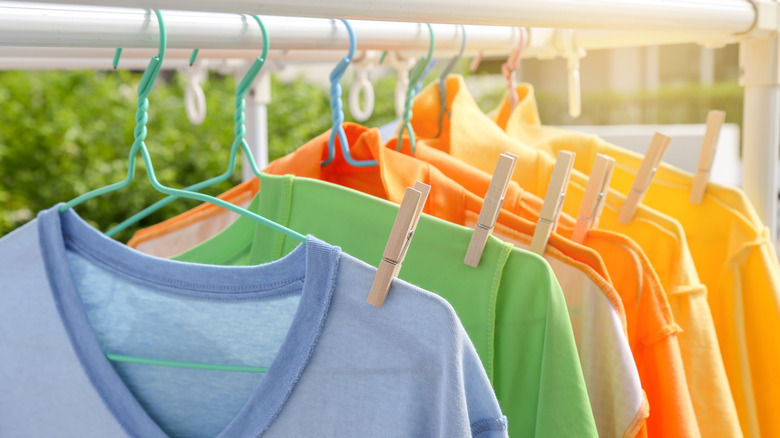
{"type": "Polygon", "coordinates": [[[739,50],[740,84],[745,87],[743,185],[775,242],[780,151],[780,45],[775,35],[742,42],[739,50]]]}

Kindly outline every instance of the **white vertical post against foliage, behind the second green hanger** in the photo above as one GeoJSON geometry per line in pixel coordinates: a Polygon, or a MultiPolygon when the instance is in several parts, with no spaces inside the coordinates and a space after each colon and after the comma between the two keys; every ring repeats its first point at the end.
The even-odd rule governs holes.
{"type": "MultiPolygon", "coordinates": [[[[236,75],[240,81],[244,73],[236,75]]],[[[261,70],[246,96],[246,141],[260,170],[268,166],[268,105],[271,103],[271,73],[261,70]]],[[[249,166],[242,166],[244,181],[255,175],[249,166]]]]}

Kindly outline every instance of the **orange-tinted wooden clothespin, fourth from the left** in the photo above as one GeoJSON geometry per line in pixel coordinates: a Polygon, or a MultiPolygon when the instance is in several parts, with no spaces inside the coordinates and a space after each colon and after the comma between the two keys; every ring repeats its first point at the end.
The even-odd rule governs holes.
{"type": "Polygon", "coordinates": [[[596,154],[593,168],[590,171],[588,187],[585,189],[585,196],[582,198],[580,214],[577,217],[577,223],[574,225],[574,233],[572,233],[571,240],[577,243],[584,242],[588,231],[598,226],[601,211],[604,209],[604,203],[607,200],[609,181],[612,179],[612,171],[614,169],[614,158],[604,154],[596,154]]]}

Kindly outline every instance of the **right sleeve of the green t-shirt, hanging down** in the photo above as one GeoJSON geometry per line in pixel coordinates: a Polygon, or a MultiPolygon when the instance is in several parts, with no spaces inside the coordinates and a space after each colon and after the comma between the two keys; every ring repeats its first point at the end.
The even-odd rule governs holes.
{"type": "Polygon", "coordinates": [[[494,384],[512,435],[598,436],[566,301],[550,265],[513,250],[496,307],[494,384]]]}

